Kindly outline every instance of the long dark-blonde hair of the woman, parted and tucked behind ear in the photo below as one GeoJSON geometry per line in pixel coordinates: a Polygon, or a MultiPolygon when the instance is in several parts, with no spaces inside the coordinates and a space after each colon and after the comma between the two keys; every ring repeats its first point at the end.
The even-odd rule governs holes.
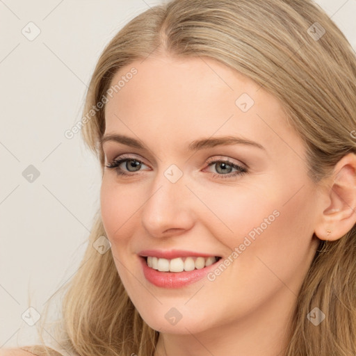
{"type": "MultiPolygon", "coordinates": [[[[355,54],[311,0],[175,0],[150,8],[104,49],[84,113],[102,102],[120,68],[161,53],[214,58],[280,99],[287,122],[305,142],[314,182],[356,152],[350,134],[356,128],[355,54]]],[[[104,130],[102,107],[82,128],[102,168],[104,130]]],[[[92,247],[102,235],[98,212],[81,266],[65,288],[56,338],[74,355],[153,355],[159,332],[133,306],[110,251],[99,254],[92,247]]],[[[355,226],[337,241],[320,241],[298,295],[285,356],[356,355],[355,261],[355,226]],[[326,315],[318,326],[307,320],[314,307],[326,315]]]]}

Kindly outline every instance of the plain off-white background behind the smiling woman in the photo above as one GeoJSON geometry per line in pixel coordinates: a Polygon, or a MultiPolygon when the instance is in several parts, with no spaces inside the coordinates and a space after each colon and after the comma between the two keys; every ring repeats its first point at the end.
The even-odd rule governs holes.
{"type": "MultiPolygon", "coordinates": [[[[41,312],[79,266],[101,177],[80,134],[64,132],[104,46],[157,3],[0,0],[0,347],[35,343],[28,289],[41,312]]],[[[356,48],[356,0],[317,3],[356,48]]]]}

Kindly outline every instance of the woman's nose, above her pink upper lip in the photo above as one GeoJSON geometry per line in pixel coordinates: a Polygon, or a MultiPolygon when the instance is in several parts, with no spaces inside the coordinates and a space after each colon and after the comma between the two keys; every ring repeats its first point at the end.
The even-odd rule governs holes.
{"type": "Polygon", "coordinates": [[[141,221],[149,236],[183,234],[193,227],[192,195],[183,177],[172,183],[163,174],[156,177],[141,211],[141,221]]]}

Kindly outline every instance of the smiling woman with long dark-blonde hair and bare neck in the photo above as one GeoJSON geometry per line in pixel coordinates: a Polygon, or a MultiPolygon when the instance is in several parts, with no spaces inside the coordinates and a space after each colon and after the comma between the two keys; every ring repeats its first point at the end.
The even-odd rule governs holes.
{"type": "Polygon", "coordinates": [[[356,60],[312,1],[147,10],[79,127],[101,209],[63,355],[355,355],[356,60]]]}

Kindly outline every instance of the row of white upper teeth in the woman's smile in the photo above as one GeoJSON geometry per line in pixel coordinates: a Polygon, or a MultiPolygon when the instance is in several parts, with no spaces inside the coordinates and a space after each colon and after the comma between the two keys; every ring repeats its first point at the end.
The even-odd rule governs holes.
{"type": "Polygon", "coordinates": [[[147,257],[147,265],[160,272],[183,272],[184,270],[200,270],[214,264],[216,257],[177,257],[176,259],[159,259],[147,257]]]}

